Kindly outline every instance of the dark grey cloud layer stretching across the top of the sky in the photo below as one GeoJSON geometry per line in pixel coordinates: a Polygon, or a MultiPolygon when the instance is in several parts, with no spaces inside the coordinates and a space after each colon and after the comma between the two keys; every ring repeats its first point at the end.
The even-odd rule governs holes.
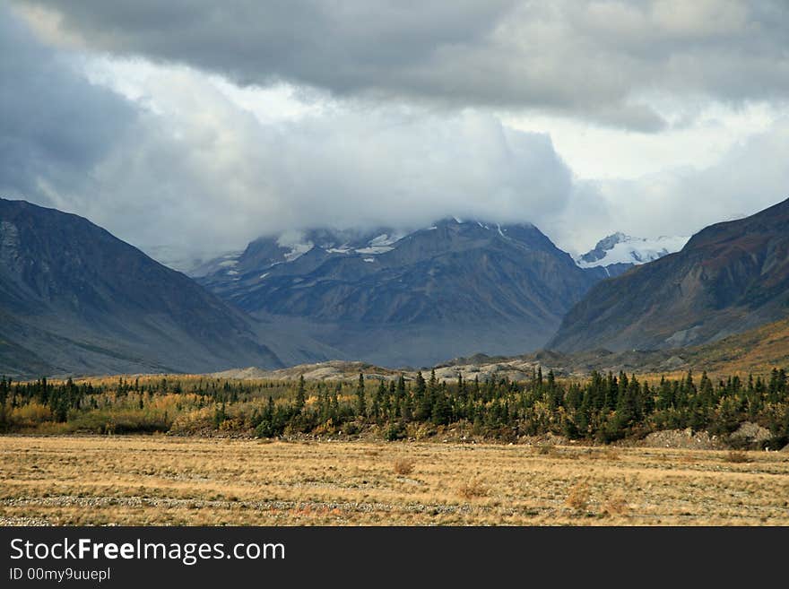
{"type": "Polygon", "coordinates": [[[649,95],[789,94],[782,0],[17,3],[50,38],[339,97],[538,108],[659,131],[649,95]]]}

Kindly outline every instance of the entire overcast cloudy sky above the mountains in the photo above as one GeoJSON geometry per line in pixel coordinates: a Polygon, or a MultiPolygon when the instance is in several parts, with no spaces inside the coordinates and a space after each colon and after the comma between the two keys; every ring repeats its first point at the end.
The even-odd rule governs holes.
{"type": "Polygon", "coordinates": [[[689,235],[789,197],[787,99],[785,0],[0,0],[0,195],[148,251],[689,235]]]}

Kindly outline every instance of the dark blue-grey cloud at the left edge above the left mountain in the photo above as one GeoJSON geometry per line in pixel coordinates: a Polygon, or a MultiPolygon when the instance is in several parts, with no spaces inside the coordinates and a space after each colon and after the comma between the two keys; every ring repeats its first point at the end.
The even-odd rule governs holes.
{"type": "Polygon", "coordinates": [[[136,110],[88,83],[0,10],[0,194],[82,185],[136,110]]]}

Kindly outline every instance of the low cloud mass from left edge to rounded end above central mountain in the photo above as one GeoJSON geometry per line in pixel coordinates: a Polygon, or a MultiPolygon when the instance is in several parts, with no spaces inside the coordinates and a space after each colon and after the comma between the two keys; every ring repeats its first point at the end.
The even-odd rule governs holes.
{"type": "Polygon", "coordinates": [[[93,64],[86,76],[90,56],[54,53],[7,14],[0,31],[2,194],[143,248],[215,253],[283,230],[447,214],[542,223],[572,190],[549,136],[475,109],[351,101],[261,117],[190,68],[110,64],[102,78],[93,64]]]}

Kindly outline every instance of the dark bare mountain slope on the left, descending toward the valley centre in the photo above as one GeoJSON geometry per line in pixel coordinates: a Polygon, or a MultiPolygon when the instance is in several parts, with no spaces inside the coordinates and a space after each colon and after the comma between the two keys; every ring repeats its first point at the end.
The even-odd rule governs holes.
{"type": "Polygon", "coordinates": [[[0,374],[203,372],[325,358],[325,346],[283,343],[270,328],[82,217],[0,199],[0,374]],[[265,333],[276,346],[262,342],[265,333]]]}

